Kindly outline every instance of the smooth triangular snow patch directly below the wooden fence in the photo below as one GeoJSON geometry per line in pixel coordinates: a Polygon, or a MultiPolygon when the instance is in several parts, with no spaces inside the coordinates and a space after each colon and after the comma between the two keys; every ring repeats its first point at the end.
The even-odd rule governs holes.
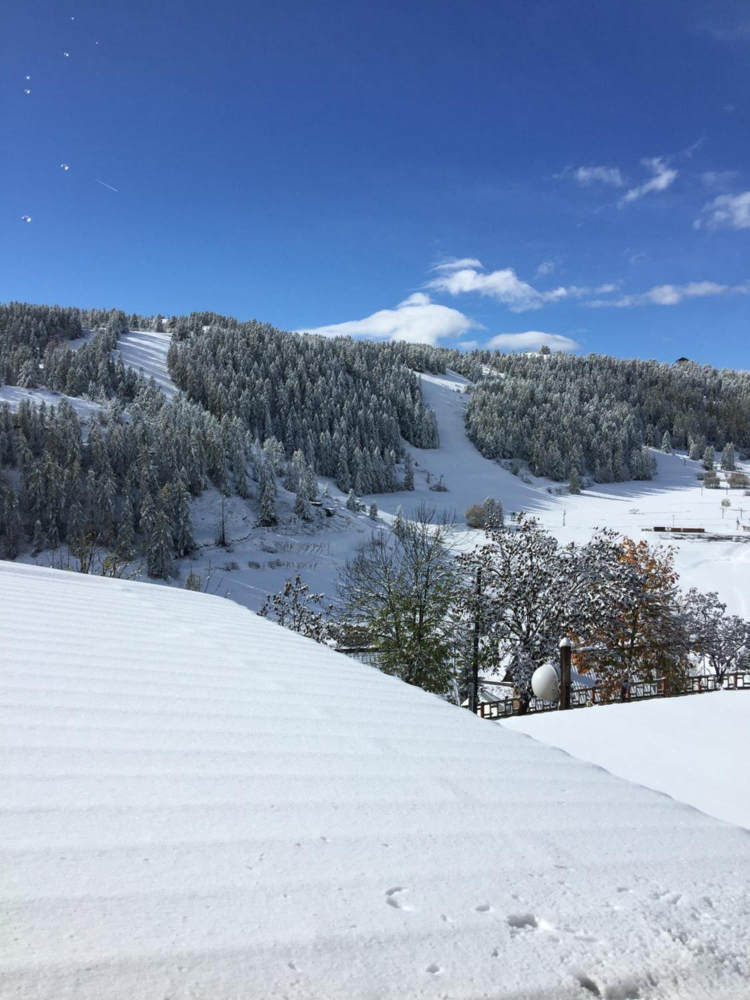
{"type": "Polygon", "coordinates": [[[750,830],[750,691],[522,715],[503,725],[750,830]]]}

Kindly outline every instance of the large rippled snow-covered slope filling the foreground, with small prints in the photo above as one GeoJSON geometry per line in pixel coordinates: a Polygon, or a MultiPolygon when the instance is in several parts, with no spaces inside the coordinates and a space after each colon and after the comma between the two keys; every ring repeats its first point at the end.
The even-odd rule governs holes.
{"type": "Polygon", "coordinates": [[[747,996],[746,831],[231,601],[0,606],[4,997],[747,996]]]}

